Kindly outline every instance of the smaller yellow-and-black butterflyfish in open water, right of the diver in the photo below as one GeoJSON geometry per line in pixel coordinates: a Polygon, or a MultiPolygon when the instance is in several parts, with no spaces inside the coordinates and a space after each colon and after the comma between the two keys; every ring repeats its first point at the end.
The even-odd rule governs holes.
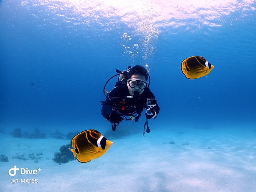
{"type": "Polygon", "coordinates": [[[201,56],[192,56],[181,62],[182,73],[188,79],[206,76],[213,68],[214,66],[201,56]]]}

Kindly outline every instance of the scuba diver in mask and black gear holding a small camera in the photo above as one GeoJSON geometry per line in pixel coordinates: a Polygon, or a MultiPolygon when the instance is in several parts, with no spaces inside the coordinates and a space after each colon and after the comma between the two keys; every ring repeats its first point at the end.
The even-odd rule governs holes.
{"type": "MultiPolygon", "coordinates": [[[[146,109],[146,122],[147,133],[150,132],[148,128],[148,119],[156,118],[159,113],[159,106],[156,103],[154,94],[150,91],[150,76],[146,68],[136,65],[131,68],[128,66],[128,71],[116,70],[119,75],[116,86],[110,91],[105,90],[108,81],[113,78],[112,76],[104,86],[104,95],[106,100],[102,102],[101,114],[112,123],[112,130],[116,130],[116,126],[124,120],[135,120],[141,116],[143,109],[146,109]],[[149,82],[147,82],[149,77],[149,82]],[[107,92],[108,94],[106,94],[107,92]],[[128,116],[128,118],[126,117],[128,116]]],[[[144,135],[143,135],[144,136],[144,135]]]]}

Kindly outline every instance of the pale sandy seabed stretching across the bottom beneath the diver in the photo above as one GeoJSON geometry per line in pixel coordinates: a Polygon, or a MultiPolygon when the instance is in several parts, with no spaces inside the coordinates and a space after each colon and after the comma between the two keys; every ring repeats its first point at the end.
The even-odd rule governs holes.
{"type": "Polygon", "coordinates": [[[0,154],[9,161],[0,162],[0,191],[255,192],[254,130],[167,130],[151,130],[144,138],[138,133],[113,139],[106,154],[84,164],[53,162],[54,152],[70,140],[1,134],[0,154]],[[31,153],[42,155],[37,162],[12,159],[31,153]],[[9,176],[14,166],[37,174],[17,171],[9,176]],[[12,179],[19,182],[11,183],[12,179]]]}

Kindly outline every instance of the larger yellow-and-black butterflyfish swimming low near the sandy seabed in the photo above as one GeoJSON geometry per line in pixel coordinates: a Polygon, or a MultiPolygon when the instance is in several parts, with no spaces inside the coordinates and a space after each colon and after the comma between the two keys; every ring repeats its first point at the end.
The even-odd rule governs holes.
{"type": "Polygon", "coordinates": [[[85,130],[72,138],[70,149],[81,163],[87,163],[102,156],[113,142],[107,140],[100,132],[94,129],[85,130]]]}

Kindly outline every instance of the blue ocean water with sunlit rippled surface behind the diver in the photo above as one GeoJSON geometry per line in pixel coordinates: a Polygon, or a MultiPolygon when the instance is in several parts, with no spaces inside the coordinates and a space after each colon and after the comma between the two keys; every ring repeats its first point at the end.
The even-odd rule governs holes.
{"type": "Polygon", "coordinates": [[[149,70],[160,106],[151,129],[255,129],[255,9],[255,0],[1,0],[0,129],[110,129],[103,86],[135,64],[149,70]],[[189,80],[180,64],[194,55],[215,68],[189,80]]]}

